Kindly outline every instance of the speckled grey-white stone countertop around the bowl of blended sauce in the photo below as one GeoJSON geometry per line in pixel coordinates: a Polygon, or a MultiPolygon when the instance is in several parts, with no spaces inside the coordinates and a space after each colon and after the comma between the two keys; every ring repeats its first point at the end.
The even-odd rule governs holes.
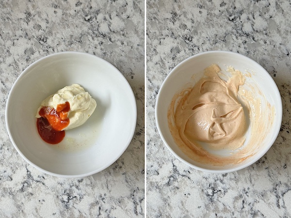
{"type": "Polygon", "coordinates": [[[291,217],[291,2],[148,0],[146,75],[147,217],[291,217]],[[194,170],[163,144],[155,124],[162,81],[182,60],[209,50],[239,52],[274,78],[283,121],[271,149],[246,169],[194,170]]]}

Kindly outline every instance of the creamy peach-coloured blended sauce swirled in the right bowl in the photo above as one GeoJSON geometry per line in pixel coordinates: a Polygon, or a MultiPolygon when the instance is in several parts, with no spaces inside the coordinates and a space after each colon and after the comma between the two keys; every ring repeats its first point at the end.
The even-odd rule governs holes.
{"type": "MultiPolygon", "coordinates": [[[[219,66],[212,64],[205,69],[205,77],[194,87],[184,89],[173,97],[168,109],[168,125],[180,149],[197,162],[211,163],[212,166],[240,163],[252,156],[248,152],[250,147],[241,151],[248,128],[244,112],[259,114],[261,109],[250,97],[243,101],[246,106],[244,111],[238,92],[245,78],[239,70],[232,68],[229,72],[232,76],[226,81],[220,78],[219,66]],[[254,109],[251,109],[252,105],[254,109]],[[215,150],[227,150],[229,155],[209,152],[215,150]],[[238,152],[234,154],[235,151],[238,152]]],[[[248,115],[248,118],[254,117],[248,115]]]]}

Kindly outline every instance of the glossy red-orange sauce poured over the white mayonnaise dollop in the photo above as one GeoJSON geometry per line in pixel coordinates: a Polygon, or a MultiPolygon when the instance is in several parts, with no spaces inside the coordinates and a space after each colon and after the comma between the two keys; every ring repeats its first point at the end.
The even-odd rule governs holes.
{"type": "Polygon", "coordinates": [[[40,137],[50,144],[57,144],[65,137],[63,130],[69,125],[70,120],[67,117],[70,110],[70,103],[57,105],[53,107],[43,107],[39,110],[41,118],[37,119],[36,125],[40,137]]]}

